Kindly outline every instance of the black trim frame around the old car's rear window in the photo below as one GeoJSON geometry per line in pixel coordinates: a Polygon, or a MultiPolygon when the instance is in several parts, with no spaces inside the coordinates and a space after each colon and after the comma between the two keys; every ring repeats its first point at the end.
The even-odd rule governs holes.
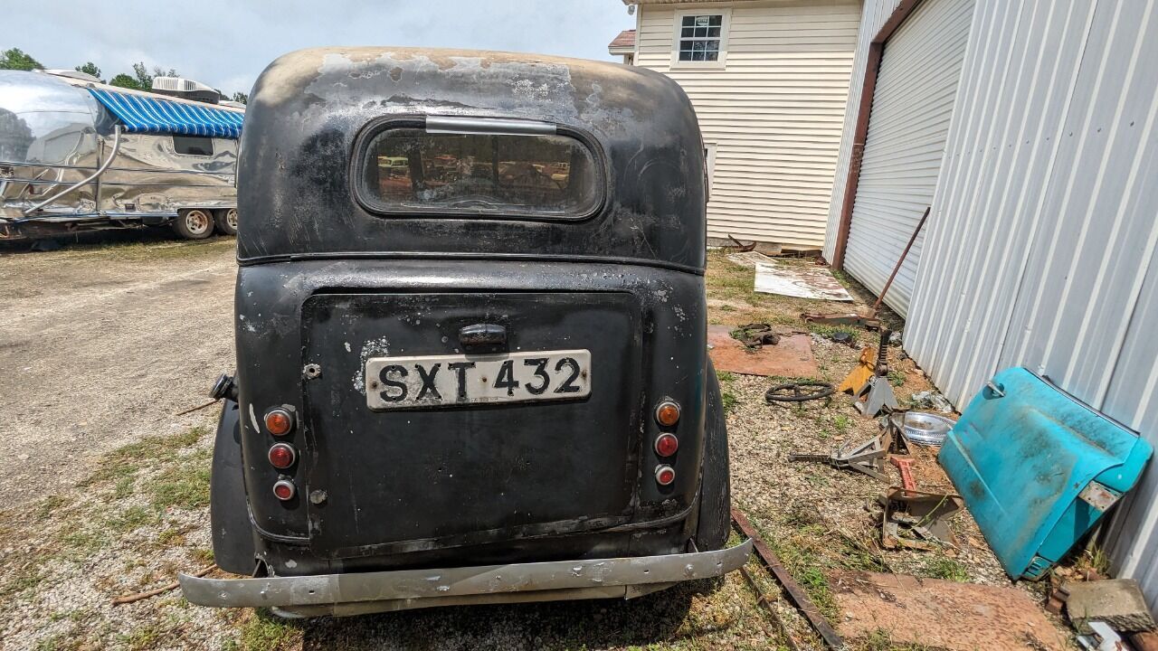
{"type": "MultiPolygon", "coordinates": [[[[391,207],[386,205],[381,199],[373,195],[369,188],[366,186],[365,180],[362,178],[362,167],[366,156],[369,154],[369,146],[382,132],[389,131],[391,129],[426,129],[426,115],[404,115],[404,116],[386,116],[374,120],[371,120],[365,126],[359,130],[358,134],[354,137],[353,154],[350,156],[350,166],[347,169],[347,177],[350,178],[350,189],[353,193],[354,202],[361,206],[366,212],[390,218],[410,218],[410,219],[496,219],[504,221],[547,221],[552,224],[577,224],[592,219],[593,217],[603,212],[607,205],[607,197],[609,196],[608,178],[610,174],[608,173],[607,155],[603,148],[599,145],[591,133],[567,126],[564,124],[556,123],[554,120],[530,120],[525,117],[510,117],[510,116],[488,116],[488,115],[460,115],[460,116],[434,116],[430,117],[454,117],[454,118],[467,118],[467,119],[478,119],[478,120],[520,120],[527,122],[528,124],[551,124],[555,126],[555,134],[564,136],[577,140],[580,145],[587,148],[591,153],[594,164],[592,170],[595,173],[595,192],[598,193],[596,200],[592,204],[592,207],[585,212],[577,212],[571,214],[549,214],[549,213],[536,213],[530,211],[520,210],[497,210],[497,211],[474,211],[469,209],[441,209],[441,207],[428,207],[428,209],[409,209],[409,207],[391,207]]],[[[442,131],[438,131],[445,133],[442,131]]],[[[438,133],[435,132],[435,133],[438,133]]],[[[483,133],[479,131],[479,133],[483,133]]],[[[522,133],[519,133],[520,136],[522,133]]],[[[528,136],[534,136],[535,133],[527,132],[528,136]]]]}

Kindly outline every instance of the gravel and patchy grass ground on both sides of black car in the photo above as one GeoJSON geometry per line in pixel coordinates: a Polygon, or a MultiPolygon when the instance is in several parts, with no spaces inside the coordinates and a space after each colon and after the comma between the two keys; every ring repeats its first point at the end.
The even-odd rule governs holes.
{"type": "MultiPolygon", "coordinates": [[[[112,598],[162,586],[212,563],[207,524],[212,409],[197,405],[233,366],[232,240],[177,242],[133,234],[49,254],[0,250],[0,650],[9,649],[787,649],[820,648],[755,562],[740,573],[628,602],[479,606],[286,622],[252,610],[190,606],[177,591],[124,606],[112,598]],[[22,458],[21,455],[27,455],[22,458]],[[779,622],[783,622],[783,627],[779,622]]],[[[844,308],[752,292],[753,272],[713,254],[710,322],[805,330],[819,374],[840,381],[857,350],[806,329],[800,312],[844,308]]],[[[900,322],[895,322],[900,326],[900,322]]],[[[850,330],[863,343],[872,335],[850,330]]],[[[928,388],[895,356],[900,397],[928,388]]],[[[790,452],[827,452],[875,433],[844,396],[800,408],[765,404],[774,379],[721,374],[730,405],[734,505],[834,622],[828,577],[896,571],[1010,585],[967,514],[959,544],[881,551],[872,502],[884,483],[790,452]]],[[[918,482],[947,488],[925,452],[918,482]]],[[[1021,586],[1039,599],[1039,586],[1021,586]]],[[[888,631],[853,649],[924,649],[888,631]]]]}

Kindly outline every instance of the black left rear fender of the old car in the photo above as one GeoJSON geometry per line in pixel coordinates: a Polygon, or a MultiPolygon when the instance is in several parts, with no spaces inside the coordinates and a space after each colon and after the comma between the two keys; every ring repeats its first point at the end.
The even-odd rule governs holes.
{"type": "Polygon", "coordinates": [[[235,575],[249,575],[254,571],[256,548],[245,498],[240,416],[237,403],[225,400],[210,470],[210,531],[218,566],[235,575]]]}

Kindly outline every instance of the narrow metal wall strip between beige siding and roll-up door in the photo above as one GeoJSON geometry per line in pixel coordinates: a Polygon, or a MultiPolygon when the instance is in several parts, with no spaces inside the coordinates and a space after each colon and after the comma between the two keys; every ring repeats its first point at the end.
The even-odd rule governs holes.
{"type": "Polygon", "coordinates": [[[860,90],[868,61],[868,44],[877,37],[901,0],[864,0],[860,9],[860,28],[857,32],[857,49],[852,56],[852,81],[849,85],[849,101],[844,108],[844,127],[841,148],[836,154],[836,174],[833,180],[833,198],[828,204],[828,226],[824,231],[824,259],[833,259],[836,232],[841,227],[841,202],[849,177],[852,158],[852,138],[857,127],[857,111],[860,107],[860,90]]]}

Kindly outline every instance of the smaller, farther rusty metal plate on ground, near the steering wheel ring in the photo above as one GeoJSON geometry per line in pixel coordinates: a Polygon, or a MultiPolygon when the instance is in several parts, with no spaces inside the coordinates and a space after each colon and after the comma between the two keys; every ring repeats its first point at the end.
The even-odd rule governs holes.
{"type": "Polygon", "coordinates": [[[748,350],[732,338],[731,326],[709,326],[708,345],[717,371],[783,378],[815,378],[818,374],[808,335],[783,335],[776,345],[748,350]]]}

